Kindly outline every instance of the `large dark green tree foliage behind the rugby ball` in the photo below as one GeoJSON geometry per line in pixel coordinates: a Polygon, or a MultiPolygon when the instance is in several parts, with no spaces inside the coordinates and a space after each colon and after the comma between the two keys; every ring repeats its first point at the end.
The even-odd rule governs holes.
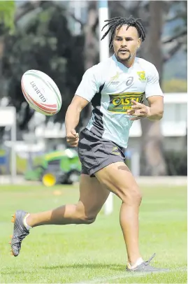
{"type": "MultiPolygon", "coordinates": [[[[68,29],[66,11],[55,3],[42,3],[39,13],[27,24],[20,23],[13,36],[6,37],[3,76],[7,80],[8,97],[20,112],[24,97],[20,88],[22,74],[28,69],[48,73],[62,93],[62,110],[55,120],[64,120],[64,113],[82,78],[82,36],[73,36],[68,29]]],[[[26,108],[20,127],[26,128],[33,112],[26,108]]]]}

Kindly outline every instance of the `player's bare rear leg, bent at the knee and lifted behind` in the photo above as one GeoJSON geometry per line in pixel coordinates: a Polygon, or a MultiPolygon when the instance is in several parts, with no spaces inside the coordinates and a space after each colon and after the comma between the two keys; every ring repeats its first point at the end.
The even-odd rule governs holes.
{"type": "Polygon", "coordinates": [[[31,213],[27,225],[90,224],[96,219],[108,197],[109,191],[96,178],[82,174],[78,204],[66,204],[50,211],[31,213]]]}

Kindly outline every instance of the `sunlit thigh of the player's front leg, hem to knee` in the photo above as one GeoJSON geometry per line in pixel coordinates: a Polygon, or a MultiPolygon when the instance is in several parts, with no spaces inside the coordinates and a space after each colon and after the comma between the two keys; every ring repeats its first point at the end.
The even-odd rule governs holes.
{"type": "Polygon", "coordinates": [[[140,189],[133,174],[124,162],[115,162],[94,173],[101,185],[108,188],[118,197],[124,200],[125,196],[136,193],[140,195],[140,189]]]}

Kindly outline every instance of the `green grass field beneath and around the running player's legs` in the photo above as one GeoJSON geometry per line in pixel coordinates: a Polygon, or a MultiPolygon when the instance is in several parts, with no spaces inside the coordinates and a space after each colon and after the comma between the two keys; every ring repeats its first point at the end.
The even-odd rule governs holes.
{"type": "Polygon", "coordinates": [[[78,186],[0,187],[0,283],[187,283],[187,188],[141,187],[140,250],[165,274],[128,274],[119,225],[120,201],[92,225],[44,226],[31,229],[18,257],[10,256],[11,214],[45,211],[78,199],[78,186]],[[60,195],[55,195],[59,190],[60,195]]]}

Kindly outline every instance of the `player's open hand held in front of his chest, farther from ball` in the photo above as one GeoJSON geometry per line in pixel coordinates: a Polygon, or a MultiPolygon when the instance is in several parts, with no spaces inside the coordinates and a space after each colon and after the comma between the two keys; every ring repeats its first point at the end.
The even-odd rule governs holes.
{"type": "Polygon", "coordinates": [[[134,118],[131,118],[130,120],[139,120],[140,118],[147,118],[148,116],[150,116],[149,106],[140,104],[133,99],[131,99],[131,102],[133,103],[133,106],[131,106],[131,109],[127,111],[127,114],[134,115],[134,118]]]}

